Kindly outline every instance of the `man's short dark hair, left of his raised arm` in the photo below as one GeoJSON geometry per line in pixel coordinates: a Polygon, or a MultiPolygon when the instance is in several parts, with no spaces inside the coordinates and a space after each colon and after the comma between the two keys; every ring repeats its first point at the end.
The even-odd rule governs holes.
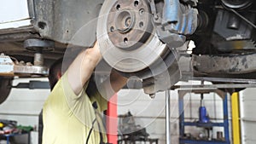
{"type": "Polygon", "coordinates": [[[49,67],[49,87],[50,90],[52,90],[55,87],[55,84],[58,82],[58,72],[61,72],[61,67],[62,67],[62,61],[63,58],[59,60],[55,60],[55,62],[49,67]]]}

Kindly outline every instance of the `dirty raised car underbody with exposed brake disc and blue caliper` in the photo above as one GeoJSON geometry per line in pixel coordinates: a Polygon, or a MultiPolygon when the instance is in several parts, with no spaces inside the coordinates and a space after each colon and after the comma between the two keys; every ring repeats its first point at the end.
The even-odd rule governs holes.
{"type": "MultiPolygon", "coordinates": [[[[9,7],[3,14],[20,13],[13,1],[2,4],[9,7]]],[[[107,69],[113,67],[125,77],[136,79],[133,83],[141,82],[150,95],[171,89],[179,80],[251,83],[256,78],[253,0],[20,3],[25,3],[24,15],[0,20],[0,52],[15,58],[18,64],[25,61],[20,64],[24,67],[49,67],[61,57],[74,57],[97,39],[107,69]]],[[[96,67],[96,74],[105,77],[108,70],[102,67],[96,67]]],[[[11,73],[21,77],[47,75],[43,70],[22,73],[13,69],[11,73]]]]}

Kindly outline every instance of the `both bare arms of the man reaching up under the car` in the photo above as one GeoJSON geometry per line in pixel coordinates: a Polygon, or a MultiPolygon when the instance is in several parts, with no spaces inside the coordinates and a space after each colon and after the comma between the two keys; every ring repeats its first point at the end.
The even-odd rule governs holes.
{"type": "MultiPolygon", "coordinates": [[[[82,51],[68,67],[67,79],[76,95],[79,95],[84,84],[90,79],[93,70],[100,60],[102,60],[102,55],[98,43],[95,43],[93,48],[82,51]]],[[[112,71],[110,77],[102,84],[107,92],[108,99],[118,92],[119,89],[122,89],[126,82],[127,78],[112,71]]]]}

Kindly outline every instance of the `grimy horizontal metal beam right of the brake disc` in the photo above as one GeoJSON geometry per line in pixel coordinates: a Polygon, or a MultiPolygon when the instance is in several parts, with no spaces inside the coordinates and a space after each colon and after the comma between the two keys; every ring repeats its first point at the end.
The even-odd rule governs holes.
{"type": "MultiPolygon", "coordinates": [[[[199,81],[208,81],[213,83],[234,83],[234,84],[256,84],[256,69],[255,66],[253,68],[253,61],[255,61],[256,55],[223,55],[223,56],[211,56],[211,55],[188,55],[183,54],[180,56],[178,60],[178,66],[181,72],[181,81],[189,81],[189,80],[199,80],[199,81]],[[202,59],[201,59],[202,57],[202,59]],[[245,60],[244,65],[251,66],[250,70],[248,69],[241,69],[238,72],[225,71],[225,72],[218,72],[222,68],[218,65],[224,67],[226,60],[230,62],[234,62],[234,64],[240,63],[240,60],[245,60]],[[218,60],[215,60],[218,59],[218,60]],[[215,60],[215,61],[214,61],[215,60]],[[224,61],[223,61],[224,60],[224,61]],[[217,62],[218,61],[218,62],[217,62]],[[215,66],[212,67],[212,62],[215,63],[215,66]],[[203,65],[201,65],[201,63],[203,65]],[[207,67],[206,67],[207,66],[207,67]],[[199,68],[200,67],[200,68],[199,68]],[[206,72],[208,71],[208,72],[206,72]],[[209,72],[211,71],[211,72],[209,72]],[[250,73],[248,73],[250,72],[250,73]],[[238,74],[236,74],[238,73],[238,74]],[[247,74],[240,74],[240,73],[247,73],[247,74]]],[[[232,69],[234,67],[233,63],[226,64],[226,70],[232,69]],[[230,67],[230,68],[229,68],[230,67]]]]}

